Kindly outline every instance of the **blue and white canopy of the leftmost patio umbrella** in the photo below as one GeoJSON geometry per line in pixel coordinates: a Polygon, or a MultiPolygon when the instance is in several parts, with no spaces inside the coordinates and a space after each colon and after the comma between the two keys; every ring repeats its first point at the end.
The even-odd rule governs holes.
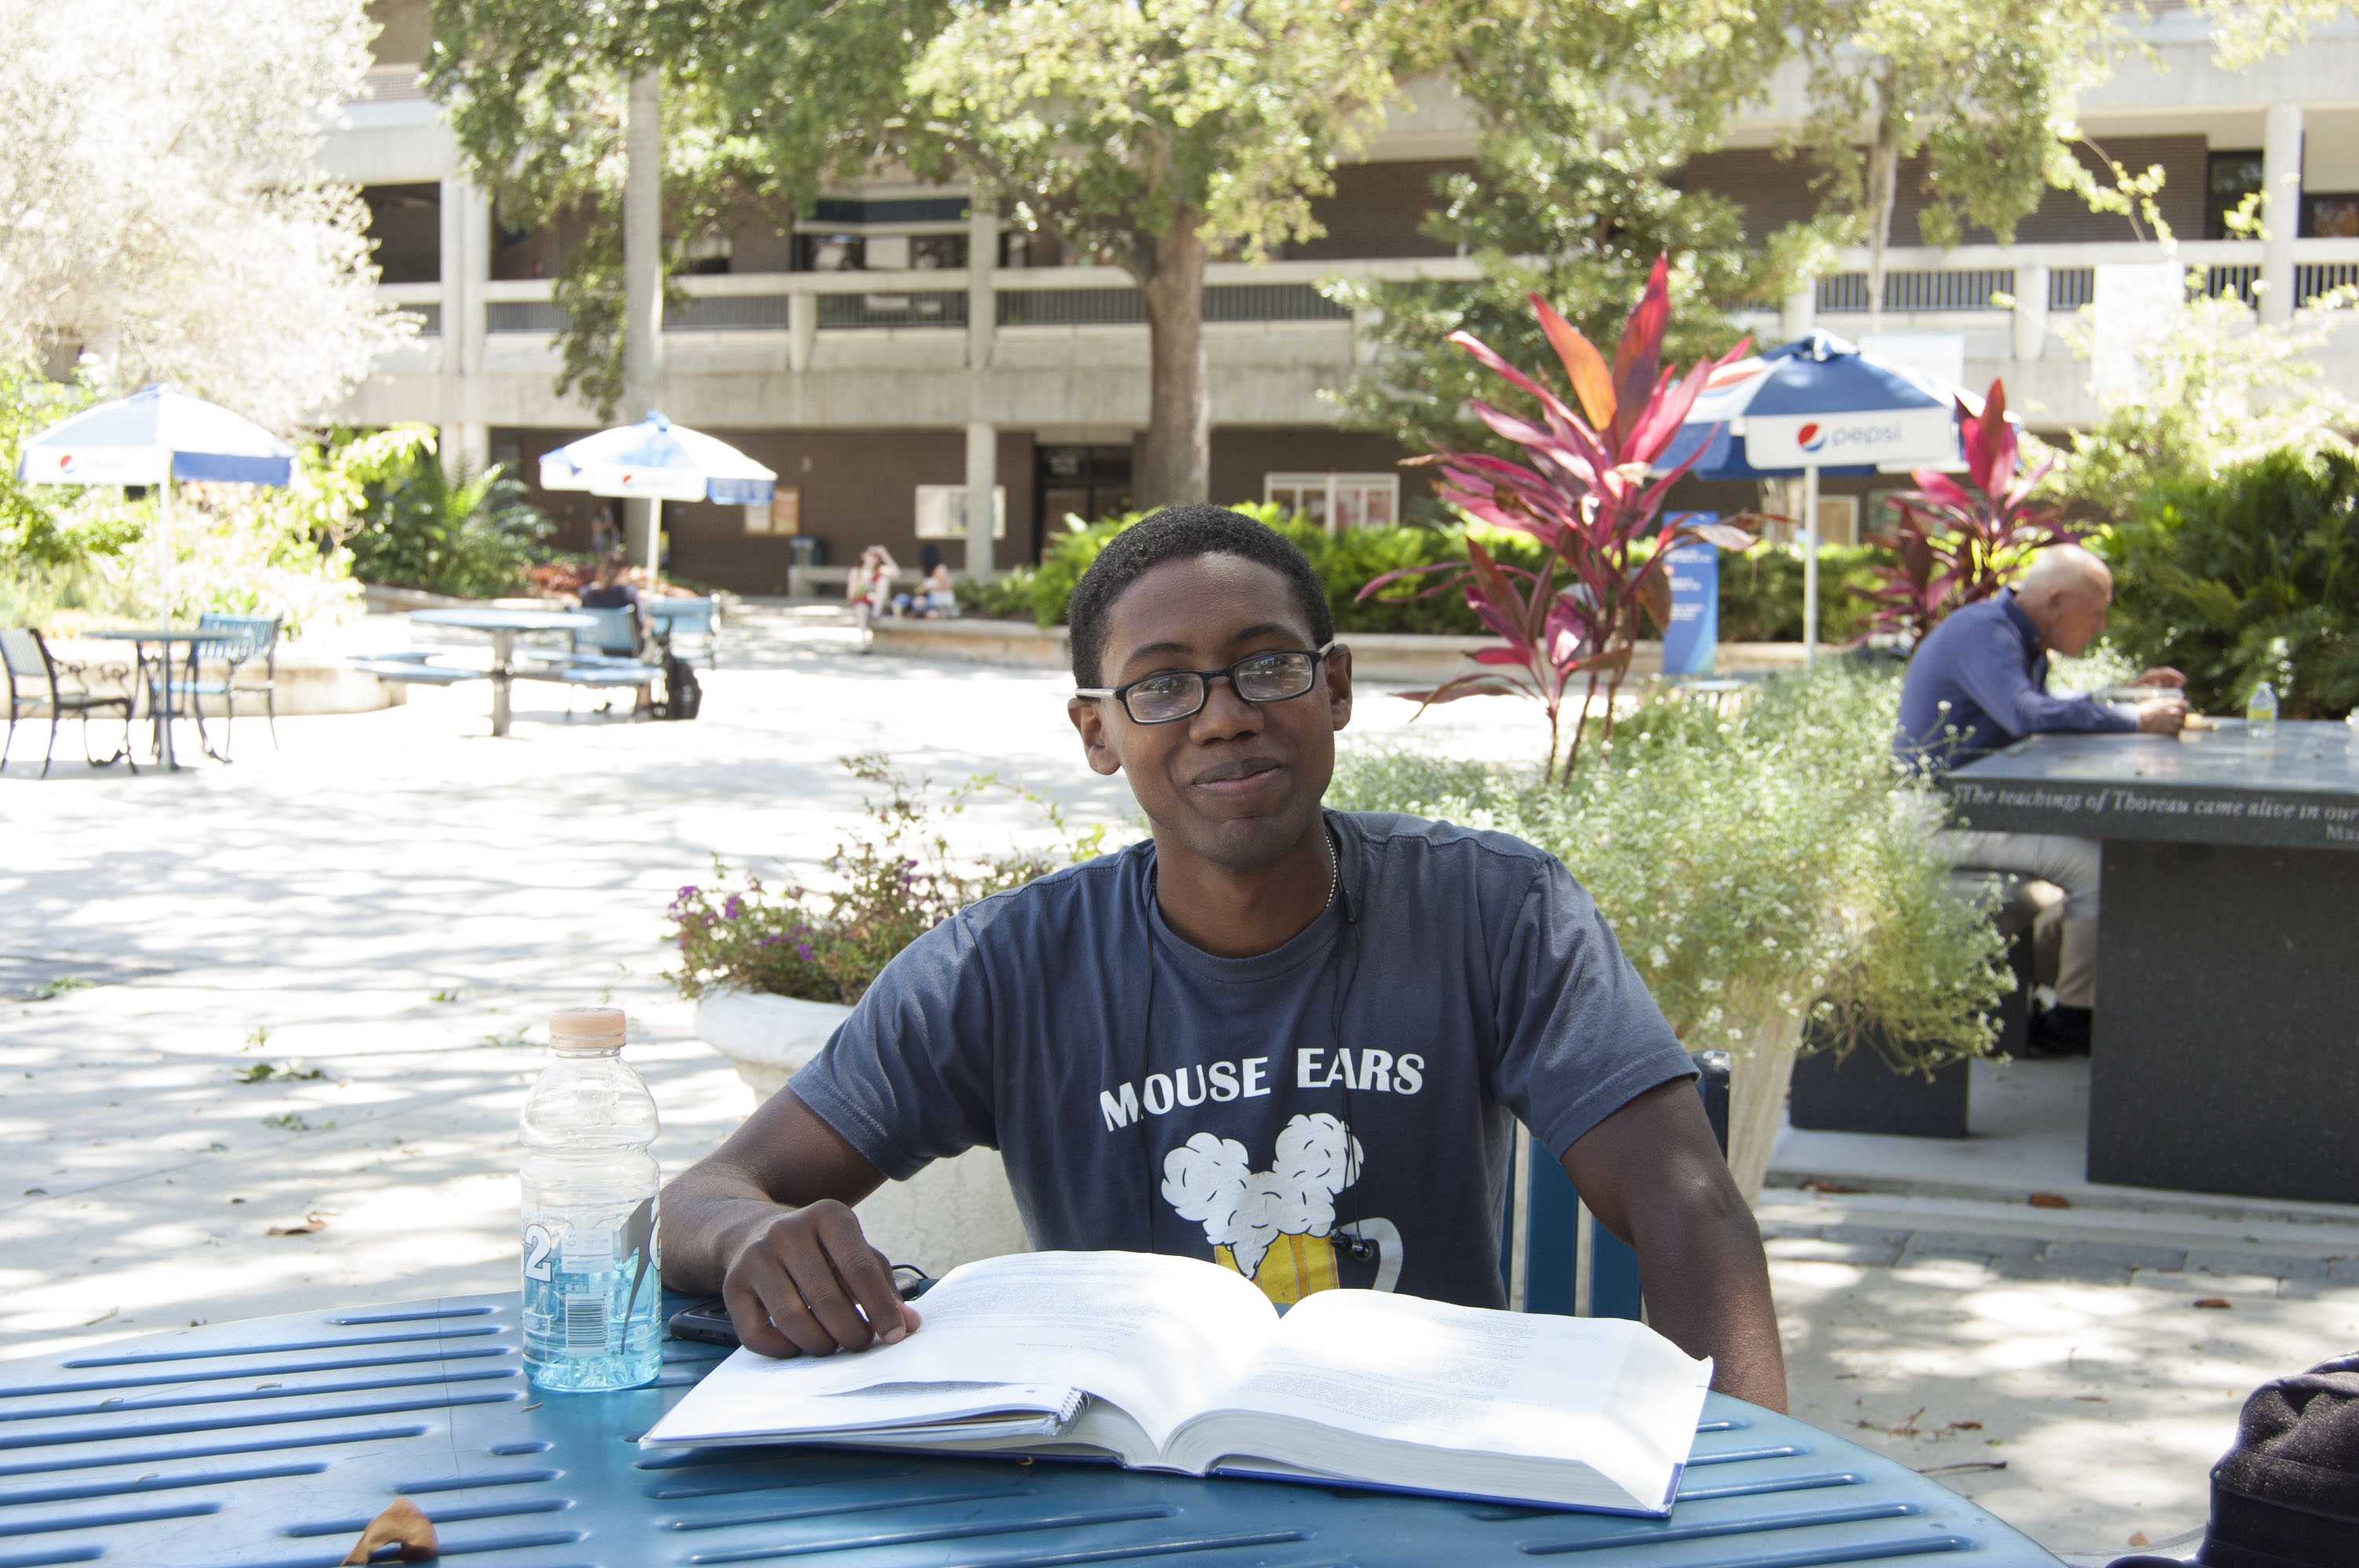
{"type": "Polygon", "coordinates": [[[175,479],[283,486],[295,448],[243,415],[179,387],[142,387],[85,408],[24,443],[17,479],[71,486],[160,486],[175,479]]]}

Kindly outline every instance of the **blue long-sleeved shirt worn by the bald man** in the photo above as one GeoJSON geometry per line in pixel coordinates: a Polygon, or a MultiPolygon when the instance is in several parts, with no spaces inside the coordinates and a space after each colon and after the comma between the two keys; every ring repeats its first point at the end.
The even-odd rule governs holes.
{"type": "Polygon", "coordinates": [[[1937,625],[1908,660],[1892,755],[1927,773],[1989,757],[2041,731],[2135,731],[2097,698],[2048,696],[2048,651],[2015,589],[1998,589],[1937,625]],[[1958,736],[1949,738],[1946,731],[1958,736]]]}

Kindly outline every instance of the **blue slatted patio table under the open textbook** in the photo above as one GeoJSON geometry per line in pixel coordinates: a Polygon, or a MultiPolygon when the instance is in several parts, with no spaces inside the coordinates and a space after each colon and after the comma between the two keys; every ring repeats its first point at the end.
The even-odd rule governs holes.
{"type": "Polygon", "coordinates": [[[328,1568],[408,1497],[443,1559],[502,1568],[2059,1568],[1934,1481],[1717,1394],[1665,1521],[1095,1464],[642,1450],[719,1358],[668,1342],[644,1389],[543,1394],[524,1379],[517,1297],[493,1294],[5,1363],[0,1563],[328,1568]]]}

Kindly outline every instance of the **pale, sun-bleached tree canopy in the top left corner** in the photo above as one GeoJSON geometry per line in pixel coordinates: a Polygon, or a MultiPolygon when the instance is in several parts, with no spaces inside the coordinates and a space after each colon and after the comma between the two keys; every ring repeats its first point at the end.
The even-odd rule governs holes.
{"type": "Polygon", "coordinates": [[[326,413],[399,330],[366,210],[321,177],[359,0],[0,0],[0,361],[326,413]],[[134,42],[132,42],[134,40],[134,42]]]}

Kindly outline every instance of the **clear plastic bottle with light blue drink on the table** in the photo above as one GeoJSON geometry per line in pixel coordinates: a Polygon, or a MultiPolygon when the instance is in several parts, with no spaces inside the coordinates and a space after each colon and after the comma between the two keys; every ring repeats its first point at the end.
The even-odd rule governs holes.
{"type": "Polygon", "coordinates": [[[550,1014],[524,1096],[524,1372],[540,1389],[635,1389],[663,1365],[656,1096],[623,1061],[620,1007],[550,1014]]]}

